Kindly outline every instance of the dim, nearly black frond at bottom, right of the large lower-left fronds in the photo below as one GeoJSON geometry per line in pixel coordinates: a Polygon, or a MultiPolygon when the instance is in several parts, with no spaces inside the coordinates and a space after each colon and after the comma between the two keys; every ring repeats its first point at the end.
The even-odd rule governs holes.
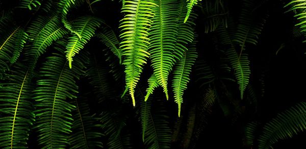
{"type": "Polygon", "coordinates": [[[76,98],[73,113],[73,123],[71,135],[68,139],[69,148],[102,148],[100,132],[94,130],[94,118],[89,114],[89,106],[85,102],[86,98],[76,98]]]}

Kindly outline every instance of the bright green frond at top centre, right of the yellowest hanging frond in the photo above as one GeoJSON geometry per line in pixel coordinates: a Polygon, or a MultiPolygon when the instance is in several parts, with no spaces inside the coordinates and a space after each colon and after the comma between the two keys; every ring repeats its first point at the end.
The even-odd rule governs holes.
{"type": "Polygon", "coordinates": [[[155,12],[153,23],[149,31],[151,66],[159,84],[163,87],[168,100],[168,76],[174,65],[174,47],[178,24],[176,21],[176,1],[154,1],[158,7],[153,8],[155,12]]]}

